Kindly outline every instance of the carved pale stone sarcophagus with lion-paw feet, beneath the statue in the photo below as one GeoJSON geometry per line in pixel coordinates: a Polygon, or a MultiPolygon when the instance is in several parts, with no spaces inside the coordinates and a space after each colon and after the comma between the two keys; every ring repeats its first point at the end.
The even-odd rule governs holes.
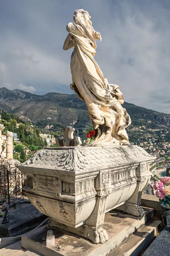
{"type": "Polygon", "coordinates": [[[38,151],[18,168],[27,175],[24,188],[48,225],[103,243],[105,213],[119,207],[144,214],[142,190],[154,160],[137,146],[58,147],[38,151]]]}

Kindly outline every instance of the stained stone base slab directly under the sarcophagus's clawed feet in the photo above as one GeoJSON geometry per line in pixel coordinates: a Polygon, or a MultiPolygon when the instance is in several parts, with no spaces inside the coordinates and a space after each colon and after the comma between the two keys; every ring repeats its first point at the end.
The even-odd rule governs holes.
{"type": "Polygon", "coordinates": [[[93,244],[80,236],[74,235],[64,230],[52,229],[47,226],[31,231],[22,236],[22,247],[33,250],[43,256],[106,256],[127,240],[138,229],[148,221],[147,216],[151,216],[153,209],[144,208],[145,216],[134,217],[123,212],[112,210],[105,214],[104,229],[106,229],[109,239],[103,244],[93,244]],[[55,235],[55,247],[46,247],[46,233],[53,230],[55,235]]]}

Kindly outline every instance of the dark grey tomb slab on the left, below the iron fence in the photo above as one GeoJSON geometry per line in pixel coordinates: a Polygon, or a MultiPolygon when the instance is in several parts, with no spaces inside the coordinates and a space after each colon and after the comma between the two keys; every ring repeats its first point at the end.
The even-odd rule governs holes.
{"type": "Polygon", "coordinates": [[[37,210],[33,204],[29,204],[11,211],[10,222],[1,224],[0,235],[3,237],[12,237],[23,234],[24,232],[37,227],[47,216],[37,210]]]}

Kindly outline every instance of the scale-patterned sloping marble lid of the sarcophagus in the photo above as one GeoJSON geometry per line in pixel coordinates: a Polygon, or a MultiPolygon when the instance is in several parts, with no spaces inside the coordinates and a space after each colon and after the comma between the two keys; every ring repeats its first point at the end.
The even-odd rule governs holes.
{"type": "Polygon", "coordinates": [[[144,149],[137,146],[116,147],[67,147],[39,150],[25,165],[56,170],[76,171],[104,166],[114,166],[153,159],[144,149]]]}

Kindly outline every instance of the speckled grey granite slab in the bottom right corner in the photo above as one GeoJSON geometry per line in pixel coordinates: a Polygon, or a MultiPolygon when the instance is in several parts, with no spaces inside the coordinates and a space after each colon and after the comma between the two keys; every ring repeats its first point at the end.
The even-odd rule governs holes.
{"type": "Polygon", "coordinates": [[[170,232],[165,227],[158,237],[151,243],[142,256],[169,256],[170,255],[170,232]]]}

